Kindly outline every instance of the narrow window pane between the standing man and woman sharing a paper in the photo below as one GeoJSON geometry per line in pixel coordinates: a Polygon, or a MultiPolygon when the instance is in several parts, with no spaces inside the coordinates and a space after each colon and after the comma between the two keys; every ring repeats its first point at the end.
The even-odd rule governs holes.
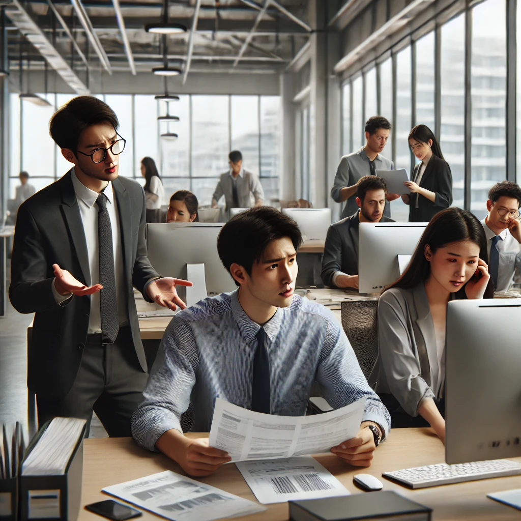
{"type": "MultiPolygon", "coordinates": [[[[411,47],[406,47],[396,55],[396,169],[404,168],[411,175],[411,149],[407,136],[411,131],[412,91],[411,91],[411,47]]],[[[391,202],[391,217],[395,221],[407,221],[409,207],[402,199],[391,202]]]]}

